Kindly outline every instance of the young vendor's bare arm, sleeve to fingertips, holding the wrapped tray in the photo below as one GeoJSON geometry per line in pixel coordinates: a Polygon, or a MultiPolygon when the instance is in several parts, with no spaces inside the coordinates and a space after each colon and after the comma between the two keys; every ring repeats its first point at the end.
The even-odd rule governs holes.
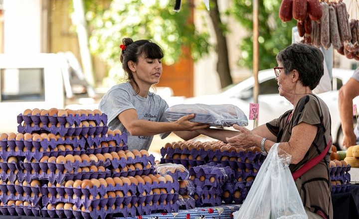
{"type": "Polygon", "coordinates": [[[118,115],[118,118],[131,135],[155,135],[169,131],[192,131],[209,127],[208,124],[191,122],[194,114],[182,116],[174,122],[157,122],[139,119],[135,109],[127,109],[118,115]]]}

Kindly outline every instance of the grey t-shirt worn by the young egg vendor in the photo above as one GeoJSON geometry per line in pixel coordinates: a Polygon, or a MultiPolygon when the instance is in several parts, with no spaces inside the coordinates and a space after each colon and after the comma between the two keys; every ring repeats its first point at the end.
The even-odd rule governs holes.
{"type": "MultiPolygon", "coordinates": [[[[135,93],[129,82],[113,86],[102,98],[99,109],[107,114],[107,125],[111,130],[120,129],[128,135],[129,150],[148,150],[153,135],[132,136],[118,119],[118,115],[126,109],[136,109],[139,119],[168,122],[165,110],[168,104],[159,95],[149,92],[147,98],[135,93]]],[[[167,137],[171,132],[160,134],[161,138],[167,137]]]]}

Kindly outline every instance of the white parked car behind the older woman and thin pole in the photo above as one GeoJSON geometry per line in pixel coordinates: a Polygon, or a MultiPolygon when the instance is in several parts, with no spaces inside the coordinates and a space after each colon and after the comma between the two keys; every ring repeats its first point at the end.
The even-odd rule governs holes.
{"type": "MultiPolygon", "coordinates": [[[[332,135],[333,142],[339,150],[342,147],[343,132],[338,109],[338,90],[350,79],[354,70],[333,69],[332,87],[333,90],[321,93],[318,96],[323,99],[330,110],[332,116],[332,135]]],[[[259,115],[257,124],[261,125],[267,121],[279,117],[283,112],[293,109],[292,104],[278,94],[278,84],[275,80],[273,69],[262,70],[258,73],[259,82],[259,115]]],[[[249,114],[249,103],[253,103],[254,77],[250,77],[223,92],[215,95],[197,96],[184,99],[184,104],[233,104],[247,115],[249,114]]],[[[354,100],[354,104],[359,104],[359,98],[354,100]]],[[[356,124],[356,116],[353,116],[353,125],[356,124]]],[[[253,129],[254,122],[249,120],[247,128],[253,129]]]]}

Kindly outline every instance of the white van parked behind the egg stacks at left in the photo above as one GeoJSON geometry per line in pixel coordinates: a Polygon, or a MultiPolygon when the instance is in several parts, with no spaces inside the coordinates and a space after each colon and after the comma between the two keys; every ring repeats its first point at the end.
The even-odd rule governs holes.
{"type": "MultiPolygon", "coordinates": [[[[0,133],[17,132],[17,115],[25,109],[65,109],[67,100],[75,99],[64,57],[63,53],[0,54],[0,133]]],[[[83,109],[89,106],[97,109],[96,104],[83,109]]]]}

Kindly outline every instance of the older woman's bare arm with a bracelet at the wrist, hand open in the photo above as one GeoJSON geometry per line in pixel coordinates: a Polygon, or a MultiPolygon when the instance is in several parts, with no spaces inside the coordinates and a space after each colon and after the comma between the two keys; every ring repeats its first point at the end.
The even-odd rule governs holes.
{"type": "MultiPolygon", "coordinates": [[[[240,134],[238,134],[235,137],[228,138],[227,139],[228,143],[243,148],[248,148],[251,146],[260,146],[263,137],[258,135],[257,133],[261,129],[264,130],[264,128],[261,126],[258,126],[258,128],[256,128],[256,130],[253,131],[250,131],[238,125],[233,126],[240,131],[240,134]]],[[[305,154],[307,153],[310,146],[312,145],[317,130],[318,130],[317,126],[305,122],[301,122],[293,127],[292,135],[288,142],[279,143],[280,148],[282,148],[287,153],[292,155],[291,163],[297,164],[299,161],[301,161],[304,158],[305,154]]],[[[268,133],[264,131],[263,135],[265,134],[268,133]]],[[[273,141],[274,135],[273,134],[271,135],[272,136],[267,137],[268,139],[264,142],[264,148],[266,151],[269,151],[272,145],[276,143],[275,141],[273,141]]]]}

